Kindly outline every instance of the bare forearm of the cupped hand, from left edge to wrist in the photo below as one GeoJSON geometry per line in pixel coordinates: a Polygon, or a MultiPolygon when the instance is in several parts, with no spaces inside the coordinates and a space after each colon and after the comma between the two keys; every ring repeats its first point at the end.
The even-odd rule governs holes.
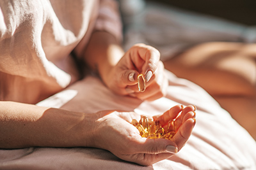
{"type": "Polygon", "coordinates": [[[0,148],[90,146],[94,114],[0,102],[0,148]]]}

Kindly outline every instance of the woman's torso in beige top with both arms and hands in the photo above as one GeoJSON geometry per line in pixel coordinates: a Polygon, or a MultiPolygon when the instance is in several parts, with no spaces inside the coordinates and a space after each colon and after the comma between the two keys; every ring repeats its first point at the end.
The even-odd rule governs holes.
{"type": "Polygon", "coordinates": [[[170,141],[141,138],[129,124],[140,119],[136,113],[89,114],[35,105],[83,78],[83,62],[116,94],[147,101],[164,96],[168,83],[159,52],[139,44],[124,53],[114,1],[1,1],[0,6],[1,148],[91,146],[149,165],[171,157],[188,141],[195,106],[179,104],[155,117],[164,125],[181,112],[179,131],[170,141]],[[138,74],[147,81],[145,92],[138,90],[138,74]]]}

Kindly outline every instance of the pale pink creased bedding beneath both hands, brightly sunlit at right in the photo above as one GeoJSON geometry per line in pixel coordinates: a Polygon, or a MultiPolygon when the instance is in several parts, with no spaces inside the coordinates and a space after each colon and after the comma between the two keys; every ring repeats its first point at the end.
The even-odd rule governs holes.
{"type": "Polygon", "coordinates": [[[175,104],[195,104],[197,122],[193,134],[170,159],[144,167],[97,148],[35,147],[0,150],[0,169],[256,169],[256,143],[248,132],[203,89],[167,74],[168,95],[150,103],[116,96],[98,78],[88,76],[38,105],[88,113],[121,109],[156,115],[175,104]]]}

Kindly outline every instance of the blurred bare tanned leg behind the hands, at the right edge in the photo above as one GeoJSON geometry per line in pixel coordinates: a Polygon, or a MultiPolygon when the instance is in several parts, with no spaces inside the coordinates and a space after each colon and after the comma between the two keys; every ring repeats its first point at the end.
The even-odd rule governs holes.
{"type": "Polygon", "coordinates": [[[211,94],[256,139],[256,45],[212,42],[164,62],[166,69],[211,94]]]}

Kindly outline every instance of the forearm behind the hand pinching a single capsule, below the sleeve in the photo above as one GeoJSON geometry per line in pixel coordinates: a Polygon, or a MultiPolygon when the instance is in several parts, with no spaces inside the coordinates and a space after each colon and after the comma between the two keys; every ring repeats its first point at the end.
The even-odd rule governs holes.
{"type": "Polygon", "coordinates": [[[83,53],[86,63],[97,71],[106,83],[108,73],[124,55],[124,50],[116,38],[104,31],[93,32],[83,53]]]}

